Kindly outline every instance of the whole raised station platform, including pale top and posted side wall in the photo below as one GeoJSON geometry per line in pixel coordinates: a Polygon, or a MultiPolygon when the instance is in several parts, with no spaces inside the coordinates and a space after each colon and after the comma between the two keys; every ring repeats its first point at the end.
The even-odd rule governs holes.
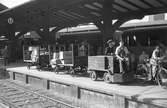
{"type": "Polygon", "coordinates": [[[79,100],[88,108],[167,108],[167,89],[157,85],[107,84],[64,72],[29,70],[23,65],[9,66],[7,71],[11,80],[50,90],[75,103],[79,100]]]}

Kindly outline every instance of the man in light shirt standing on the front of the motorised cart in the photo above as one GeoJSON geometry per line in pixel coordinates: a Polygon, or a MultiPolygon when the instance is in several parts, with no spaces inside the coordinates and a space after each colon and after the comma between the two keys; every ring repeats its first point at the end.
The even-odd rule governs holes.
{"type": "Polygon", "coordinates": [[[124,46],[124,42],[120,41],[119,46],[116,48],[115,55],[119,60],[119,68],[120,73],[127,72],[129,68],[129,59],[128,59],[129,51],[126,46],[124,46]]]}

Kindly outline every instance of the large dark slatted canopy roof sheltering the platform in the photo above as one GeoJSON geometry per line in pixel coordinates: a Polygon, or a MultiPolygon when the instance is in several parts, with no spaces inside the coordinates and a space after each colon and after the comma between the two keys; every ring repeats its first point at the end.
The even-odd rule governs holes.
{"type": "Polygon", "coordinates": [[[10,17],[14,19],[15,31],[21,32],[165,12],[167,0],[31,0],[0,11],[0,33],[7,32],[10,17]]]}

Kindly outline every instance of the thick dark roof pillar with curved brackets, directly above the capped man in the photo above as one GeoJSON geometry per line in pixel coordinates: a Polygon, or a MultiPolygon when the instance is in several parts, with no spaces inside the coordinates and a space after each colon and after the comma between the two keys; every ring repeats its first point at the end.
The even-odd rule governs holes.
{"type": "Polygon", "coordinates": [[[102,10],[102,19],[101,20],[94,20],[94,24],[99,28],[99,30],[102,33],[102,53],[104,53],[104,49],[106,46],[106,41],[108,39],[113,39],[113,35],[115,31],[126,21],[132,20],[132,19],[141,19],[143,16],[136,16],[136,17],[123,17],[118,18],[116,21],[113,21],[114,15],[112,15],[111,11],[113,9],[113,2],[114,0],[108,0],[103,3],[103,10],[102,10]]]}

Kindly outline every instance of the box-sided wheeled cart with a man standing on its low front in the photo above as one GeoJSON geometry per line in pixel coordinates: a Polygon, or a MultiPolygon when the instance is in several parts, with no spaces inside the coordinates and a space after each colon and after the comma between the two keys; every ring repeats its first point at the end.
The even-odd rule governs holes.
{"type": "Polygon", "coordinates": [[[131,72],[119,72],[119,61],[114,56],[88,56],[88,73],[92,80],[101,78],[107,83],[123,83],[133,79],[131,72]]]}

